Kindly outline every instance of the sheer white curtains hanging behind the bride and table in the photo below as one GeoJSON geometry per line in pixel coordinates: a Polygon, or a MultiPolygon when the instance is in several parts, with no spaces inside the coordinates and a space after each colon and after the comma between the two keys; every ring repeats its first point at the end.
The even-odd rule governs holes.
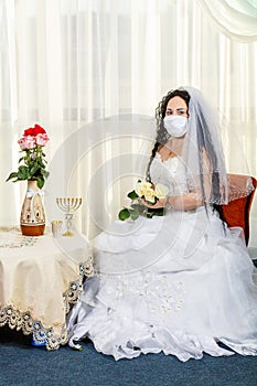
{"type": "Polygon", "coordinates": [[[82,196],[76,223],[95,236],[143,174],[159,99],[181,85],[201,88],[233,125],[224,130],[229,169],[240,172],[237,138],[257,175],[257,10],[245,3],[2,0],[1,225],[19,222],[25,183],[4,180],[18,165],[19,135],[38,122],[51,138],[47,221],[62,217],[56,196],[82,196]]]}

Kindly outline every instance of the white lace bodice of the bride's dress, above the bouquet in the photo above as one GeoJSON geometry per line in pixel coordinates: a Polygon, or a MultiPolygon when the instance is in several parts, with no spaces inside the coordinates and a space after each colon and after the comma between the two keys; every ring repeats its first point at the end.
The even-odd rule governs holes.
{"type": "Polygon", "coordinates": [[[162,161],[161,156],[157,153],[151,163],[150,175],[154,184],[162,183],[169,187],[169,195],[189,192],[185,167],[179,157],[162,161]]]}

